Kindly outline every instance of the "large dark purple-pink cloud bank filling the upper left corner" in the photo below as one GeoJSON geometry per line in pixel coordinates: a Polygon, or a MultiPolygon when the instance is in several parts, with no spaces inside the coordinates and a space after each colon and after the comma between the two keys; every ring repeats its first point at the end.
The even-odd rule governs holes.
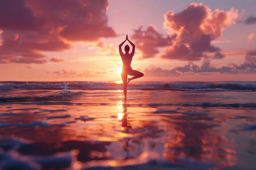
{"type": "MultiPolygon", "coordinates": [[[[0,63],[46,63],[45,51],[115,37],[107,0],[15,0],[0,5],[0,63]]],[[[56,60],[55,60],[56,61],[56,60]]]]}

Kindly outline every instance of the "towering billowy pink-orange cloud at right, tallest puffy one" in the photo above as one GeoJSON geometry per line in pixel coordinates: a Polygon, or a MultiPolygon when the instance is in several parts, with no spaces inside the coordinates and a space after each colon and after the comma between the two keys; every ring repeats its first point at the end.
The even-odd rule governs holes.
{"type": "Polygon", "coordinates": [[[167,46],[160,57],[178,60],[200,60],[203,52],[218,52],[211,42],[221,37],[222,31],[234,24],[238,11],[216,9],[211,12],[203,4],[190,4],[182,12],[174,14],[168,11],[164,26],[176,35],[173,46],[167,46]],[[182,49],[182,50],[181,50],[182,49]],[[186,53],[184,54],[184,52],[186,53]]]}

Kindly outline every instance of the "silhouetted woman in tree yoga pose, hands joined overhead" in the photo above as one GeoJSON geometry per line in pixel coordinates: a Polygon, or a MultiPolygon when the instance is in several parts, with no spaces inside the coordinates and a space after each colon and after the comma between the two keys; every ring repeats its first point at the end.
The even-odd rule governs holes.
{"type": "MultiPolygon", "coordinates": [[[[126,40],[128,42],[130,42],[130,40],[128,40],[128,35],[126,34],[126,40]]],[[[124,42],[126,42],[126,40],[124,40],[124,42]]],[[[132,62],[132,57],[134,55],[134,52],[135,52],[135,45],[130,42],[130,44],[132,45],[132,52],[129,54],[129,51],[130,51],[130,46],[126,45],[124,47],[124,51],[125,53],[122,52],[122,45],[124,44],[124,42],[122,42],[120,45],[119,45],[119,53],[121,55],[121,58],[122,58],[122,62],[123,62],[123,70],[122,70],[122,73],[121,73],[121,76],[122,76],[122,80],[123,80],[123,85],[124,85],[124,99],[126,99],[126,92],[127,92],[127,84],[132,80],[132,79],[137,79],[139,77],[142,77],[144,74],[139,72],[139,71],[136,71],[136,70],[132,70],[132,67],[131,67],[131,62],[132,62]],[[133,75],[133,77],[128,78],[128,75],[133,75]]]]}

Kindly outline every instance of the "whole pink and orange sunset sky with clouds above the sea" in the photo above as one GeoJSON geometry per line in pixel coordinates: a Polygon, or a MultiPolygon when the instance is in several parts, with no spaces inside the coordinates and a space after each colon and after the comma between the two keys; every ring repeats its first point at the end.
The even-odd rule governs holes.
{"type": "Polygon", "coordinates": [[[126,34],[135,44],[131,66],[144,73],[138,81],[256,81],[255,7],[256,0],[0,0],[0,81],[119,81],[126,34]]]}

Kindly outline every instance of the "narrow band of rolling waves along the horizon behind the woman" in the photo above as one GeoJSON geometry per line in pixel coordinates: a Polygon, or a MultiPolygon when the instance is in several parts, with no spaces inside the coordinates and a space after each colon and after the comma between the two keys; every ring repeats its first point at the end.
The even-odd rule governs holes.
{"type": "MultiPolygon", "coordinates": [[[[115,82],[0,82],[0,91],[24,90],[122,90],[115,82]]],[[[256,91],[256,82],[136,82],[128,90],[256,91]]],[[[67,93],[66,93],[67,94],[67,93]]]]}

